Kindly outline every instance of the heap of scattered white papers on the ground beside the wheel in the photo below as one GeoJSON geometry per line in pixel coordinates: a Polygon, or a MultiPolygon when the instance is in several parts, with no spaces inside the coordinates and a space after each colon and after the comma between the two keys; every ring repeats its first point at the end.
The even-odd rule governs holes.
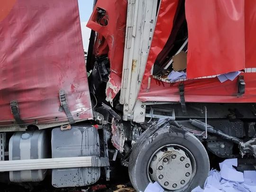
{"type": "Polygon", "coordinates": [[[256,171],[239,172],[238,159],[226,159],[219,164],[220,171],[211,170],[205,181],[192,192],[256,192],[256,171]]]}

